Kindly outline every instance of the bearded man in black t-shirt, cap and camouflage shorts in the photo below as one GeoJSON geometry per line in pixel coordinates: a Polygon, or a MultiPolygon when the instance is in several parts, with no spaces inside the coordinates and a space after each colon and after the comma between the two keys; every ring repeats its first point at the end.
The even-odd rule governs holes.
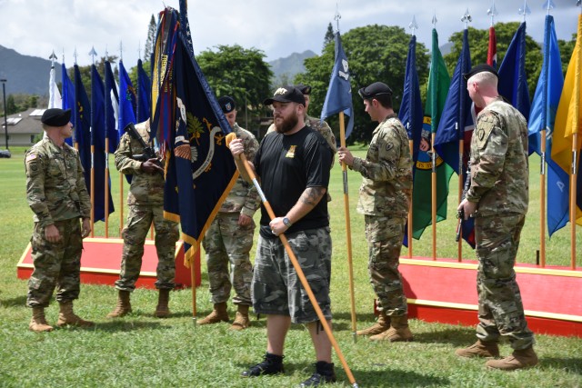
{"type": "MultiPolygon", "coordinates": [[[[331,237],[325,197],[333,152],[321,134],[305,125],[305,98],[294,86],[283,86],[264,104],[273,105],[276,132],[267,134],[251,166],[261,180],[266,199],[276,214],[269,219],[261,207],[261,222],[252,299],[255,313],[264,313],[266,355],[262,363],[242,373],[245,377],[283,372],[283,348],[290,324],[306,323],[316,350],[316,373],[302,386],[336,381],[331,363],[331,343],[301,286],[285,247],[278,239],[286,237],[301,264],[317,303],[331,327],[329,280],[331,276],[331,237]]],[[[243,144],[230,144],[236,164],[250,181],[238,155],[243,144]]]]}

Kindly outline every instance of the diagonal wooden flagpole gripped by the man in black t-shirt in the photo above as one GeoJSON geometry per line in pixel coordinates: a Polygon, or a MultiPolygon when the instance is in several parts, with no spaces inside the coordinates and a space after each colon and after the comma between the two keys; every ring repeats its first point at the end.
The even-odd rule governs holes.
{"type": "MultiPolygon", "coordinates": [[[[230,142],[233,141],[234,139],[236,139],[236,134],[233,134],[233,133],[227,134],[226,135],[226,145],[230,146],[230,142]]],[[[256,180],[256,175],[255,175],[255,172],[253,171],[253,168],[250,166],[250,164],[248,164],[248,161],[246,160],[245,154],[240,154],[239,157],[240,157],[240,160],[242,161],[242,163],[245,165],[246,174],[248,174],[248,176],[251,179],[251,181],[253,182],[253,184],[255,184],[256,191],[258,192],[259,196],[261,197],[261,201],[263,202],[263,205],[265,206],[266,213],[269,214],[269,217],[271,218],[271,220],[273,220],[274,218],[276,218],[275,213],[273,212],[273,208],[271,207],[271,204],[269,204],[268,200],[266,199],[265,193],[263,193],[263,190],[261,189],[261,185],[256,180]]],[[[325,199],[324,199],[324,201],[325,201],[325,199]]],[[[316,295],[314,295],[313,291],[311,290],[311,286],[309,286],[309,283],[307,283],[306,275],[303,273],[303,270],[301,269],[301,265],[299,264],[299,262],[297,262],[296,255],[293,253],[293,249],[291,249],[291,245],[289,245],[289,242],[287,241],[286,235],[279,234],[279,238],[281,239],[281,243],[283,243],[283,245],[285,246],[285,251],[286,251],[287,255],[289,256],[289,260],[291,260],[291,264],[293,264],[293,267],[295,268],[295,271],[296,271],[297,277],[299,278],[299,281],[303,285],[303,288],[306,290],[307,296],[309,296],[309,301],[313,305],[313,308],[316,310],[317,317],[319,318],[319,322],[323,326],[324,331],[327,334],[327,338],[329,338],[329,342],[332,344],[332,346],[336,350],[337,358],[339,358],[340,363],[342,363],[342,367],[344,368],[344,371],[346,372],[347,379],[349,380],[349,382],[352,384],[353,387],[357,388],[358,385],[356,383],[356,380],[354,379],[354,375],[352,374],[352,371],[349,369],[349,366],[347,366],[346,359],[344,358],[344,354],[342,353],[341,349],[339,348],[339,345],[336,342],[336,338],[334,337],[334,334],[331,332],[331,328],[329,327],[329,324],[327,323],[327,320],[326,320],[326,317],[324,316],[324,313],[321,311],[321,308],[319,307],[319,303],[317,303],[317,301],[316,301],[316,295]]]]}

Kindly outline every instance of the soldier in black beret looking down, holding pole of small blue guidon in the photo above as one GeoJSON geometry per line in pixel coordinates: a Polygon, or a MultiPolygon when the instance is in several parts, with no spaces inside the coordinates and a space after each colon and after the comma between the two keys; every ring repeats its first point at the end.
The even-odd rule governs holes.
{"type": "Polygon", "coordinates": [[[412,158],[406,130],[392,109],[392,90],[376,82],[362,88],[366,112],[379,124],[366,159],[339,149],[339,161],[362,174],[357,211],[364,214],[369,248],[370,282],[377,296],[379,317],[373,326],[358,331],[370,339],[411,341],[406,295],[398,271],[408,205],[412,190],[412,158]]]}

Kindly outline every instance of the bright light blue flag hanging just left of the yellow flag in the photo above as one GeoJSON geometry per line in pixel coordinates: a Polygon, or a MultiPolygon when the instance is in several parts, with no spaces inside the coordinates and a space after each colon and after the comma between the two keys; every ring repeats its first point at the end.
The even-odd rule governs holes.
{"type": "MultiPolygon", "coordinates": [[[[552,134],[560,102],[564,75],[557,46],[554,17],[546,16],[544,29],[544,63],[537,81],[536,94],[528,121],[529,150],[541,155],[540,132],[546,129],[546,154],[552,153],[552,134]]],[[[547,162],[547,231],[551,236],[568,222],[568,175],[551,158],[547,162]]],[[[543,163],[543,161],[542,161],[543,163]]]]}

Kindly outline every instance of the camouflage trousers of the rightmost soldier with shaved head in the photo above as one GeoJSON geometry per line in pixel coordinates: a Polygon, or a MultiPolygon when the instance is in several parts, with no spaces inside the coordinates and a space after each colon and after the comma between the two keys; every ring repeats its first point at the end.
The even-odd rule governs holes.
{"type": "Polygon", "coordinates": [[[525,220],[525,214],[475,218],[479,259],[477,338],[497,341],[502,335],[514,349],[525,349],[535,343],[534,334],[527,328],[514,271],[525,220]]]}

